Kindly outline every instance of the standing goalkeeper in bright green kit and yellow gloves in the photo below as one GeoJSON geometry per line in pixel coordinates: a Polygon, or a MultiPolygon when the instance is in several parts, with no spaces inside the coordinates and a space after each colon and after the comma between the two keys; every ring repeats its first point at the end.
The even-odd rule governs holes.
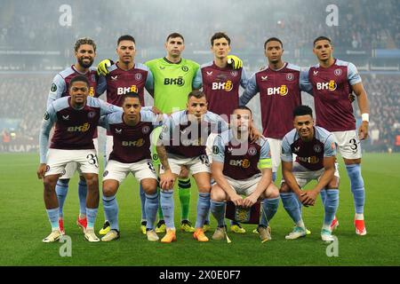
{"type": "MultiPolygon", "coordinates": [[[[186,109],[188,93],[202,87],[201,81],[196,81],[196,72],[199,65],[192,60],[182,59],[181,53],[185,49],[184,38],[178,33],[172,33],[166,38],[164,48],[167,54],[161,59],[152,59],[145,63],[154,77],[154,89],[150,95],[154,98],[154,106],[164,114],[186,109]]],[[[241,67],[242,61],[235,56],[229,56],[234,68],[241,67]]],[[[108,73],[109,59],[100,62],[98,70],[101,74],[108,73]]],[[[160,164],[156,154],[156,139],[161,132],[161,127],[152,133],[152,158],[154,164],[160,164]]],[[[190,178],[188,170],[182,168],[178,182],[182,231],[193,233],[195,228],[188,221],[190,208],[190,178]]],[[[164,217],[161,208],[158,209],[159,222],[156,225],[156,233],[165,232],[164,217]]],[[[209,229],[209,219],[204,223],[204,232],[209,229]]]]}

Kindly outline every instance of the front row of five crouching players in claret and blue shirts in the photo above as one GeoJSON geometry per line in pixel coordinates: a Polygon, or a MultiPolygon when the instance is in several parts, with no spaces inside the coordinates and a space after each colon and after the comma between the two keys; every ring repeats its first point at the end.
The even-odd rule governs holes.
{"type": "Polygon", "coordinates": [[[99,163],[92,144],[93,131],[98,125],[114,137],[102,184],[102,201],[111,230],[101,241],[113,241],[120,236],[116,192],[130,172],[146,193],[148,241],[159,240],[154,230],[158,202],[167,227],[161,241],[176,241],[173,185],[181,166],[190,170],[199,192],[196,232],[193,234],[197,241],[209,241],[203,225],[210,209],[218,222],[212,239],[224,239],[226,201],[244,208],[260,201],[258,232],[261,241],[271,240],[269,224],[276,214],[279,196],[295,223],[286,239],[305,236],[301,204],[313,206],[321,190],[326,191],[327,196],[321,237],[324,241],[333,241],[330,225],[339,203],[339,178],[334,166],[336,144],[331,133],[314,126],[312,110],[308,106],[295,109],[294,130],[284,137],[281,156],[284,180],[278,190],[272,182],[268,140],[254,129],[252,111],[246,106],[234,110],[229,128],[220,115],[207,110],[207,100],[202,91],[190,92],[187,109],[170,116],[142,108],[139,96],[132,92],[124,95],[122,108],[92,98],[88,96],[89,83],[82,75],[71,80],[69,93],[70,97],[56,99],[47,107],[42,122],[37,176],[44,179],[44,203],[52,225],[52,232],[44,242],[58,241],[61,236],[55,184],[68,162],[76,162],[88,185],[88,225],[84,237],[87,241],[100,241],[93,230],[100,199],[99,163]],[[49,149],[53,125],[55,130],[49,149]],[[163,130],[157,141],[150,141],[151,132],[157,126],[162,126],[163,130]],[[156,143],[162,163],[159,194],[150,142],[156,143]],[[297,155],[295,161],[292,161],[292,154],[297,155]],[[312,179],[318,180],[315,188],[302,191],[301,187],[312,179]]]}

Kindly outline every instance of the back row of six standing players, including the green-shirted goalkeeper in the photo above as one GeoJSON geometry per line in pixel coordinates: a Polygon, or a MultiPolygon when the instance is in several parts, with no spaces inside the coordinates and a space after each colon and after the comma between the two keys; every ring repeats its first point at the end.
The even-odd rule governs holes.
{"type": "MultiPolygon", "coordinates": [[[[138,92],[140,101],[144,105],[144,89],[146,88],[154,96],[155,106],[164,113],[185,108],[188,92],[200,89],[202,86],[207,95],[209,110],[216,114],[232,114],[236,106],[247,104],[257,92],[260,92],[263,135],[268,138],[271,147],[275,176],[280,162],[282,138],[284,134],[292,130],[292,110],[301,104],[300,91],[307,91],[315,98],[316,124],[332,131],[338,140],[355,199],[356,233],[366,233],[359,137],[363,139],[368,135],[369,110],[366,93],[356,67],[349,62],[333,59],[332,43],[329,38],[322,36],[316,39],[313,49],[319,64],[301,70],[300,67],[285,63],[282,60],[283,43],[277,38],[269,38],[264,43],[268,67],[256,72],[248,79],[242,67],[233,69],[228,65],[230,39],[227,35],[216,33],[212,36],[211,45],[214,60],[199,67],[195,62],[181,58],[181,52],[185,46],[183,36],[172,34],[167,37],[165,43],[167,56],[164,59],[155,59],[148,61],[145,65],[140,65],[134,63],[136,52],[134,39],[132,36],[121,36],[116,49],[119,60],[107,68],[106,72],[109,74],[104,77],[97,75],[96,68],[91,67],[95,57],[95,44],[90,39],[78,40],[76,43],[77,62],[55,77],[49,102],[58,97],[67,96],[68,80],[77,74],[86,75],[90,80],[91,96],[97,97],[107,89],[108,102],[117,106],[121,106],[118,100],[127,91],[138,92]],[[163,76],[163,70],[168,67],[174,67],[174,72],[170,71],[167,73],[168,76],[163,76]],[[245,89],[240,99],[239,84],[245,89]],[[176,91],[178,86],[179,92],[176,91]],[[173,92],[169,92],[169,88],[173,92]],[[358,135],[353,108],[348,100],[348,95],[352,92],[356,94],[363,117],[358,135]]],[[[108,149],[109,146],[108,143],[108,149]]],[[[68,190],[68,182],[60,183],[60,185],[68,190]]],[[[84,178],[81,179],[79,186],[80,189],[84,187],[84,178]]],[[[84,193],[84,190],[79,191],[81,192],[84,193]]],[[[77,223],[83,223],[84,226],[82,222],[85,219],[84,194],[80,194],[80,200],[81,215],[77,223]]],[[[188,206],[188,202],[186,205],[188,206]]],[[[62,216],[62,209],[60,209],[60,214],[62,216]]],[[[182,217],[182,219],[185,218],[187,219],[187,217],[182,217]]],[[[336,218],[333,222],[337,222],[336,218]]]]}

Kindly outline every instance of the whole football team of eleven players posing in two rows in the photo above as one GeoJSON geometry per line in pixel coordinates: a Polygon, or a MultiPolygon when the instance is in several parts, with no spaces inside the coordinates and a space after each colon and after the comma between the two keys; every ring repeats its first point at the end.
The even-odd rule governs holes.
{"type": "Polygon", "coordinates": [[[68,188],[76,188],[70,182],[76,171],[76,225],[89,242],[116,241],[124,233],[117,192],[130,173],[140,197],[137,226],[148,241],[179,242],[190,233],[193,241],[230,242],[228,235],[244,234],[243,225],[252,224],[254,242],[268,246],[279,241],[270,222],[282,201],[292,222],[283,240],[301,246],[298,239],[311,234],[303,207],[312,210],[319,200],[321,231],[312,233],[330,243],[340,224],[339,188],[351,191],[354,234],[365,238],[360,142],[368,138],[370,104],[356,66],[336,58],[335,43],[324,35],[310,43],[316,64],[309,67],[286,62],[286,43],[266,38],[266,65],[253,74],[231,52],[227,33],[216,31],[209,44],[213,59],[200,65],[182,57],[185,38],[174,32],[165,35],[164,58],[139,63],[134,35],[123,35],[116,38],[116,59],[99,59],[95,67],[94,40],[76,40],[76,62],[49,82],[43,102],[37,177],[51,225],[43,242],[68,235],[63,207],[68,188]],[[302,104],[301,92],[313,107],[302,104]],[[145,104],[145,93],[153,105],[145,104]],[[248,104],[257,94],[262,129],[248,104]],[[357,127],[353,102],[362,118],[357,127]],[[107,133],[101,171],[98,127],[107,133]],[[340,186],[340,159],[349,188],[340,186]],[[310,182],[313,188],[304,189],[310,182]],[[189,220],[195,194],[196,219],[189,220]]]}

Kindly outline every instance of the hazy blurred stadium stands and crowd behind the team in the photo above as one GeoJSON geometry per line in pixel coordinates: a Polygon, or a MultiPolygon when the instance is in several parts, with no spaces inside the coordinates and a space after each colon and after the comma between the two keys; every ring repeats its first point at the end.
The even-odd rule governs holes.
{"type": "MultiPolygon", "coordinates": [[[[249,75],[266,65],[263,44],[271,36],[283,41],[284,59],[301,67],[316,64],[311,52],[316,36],[331,37],[334,54],[340,52],[340,59],[354,62],[359,70],[364,70],[364,61],[357,55],[370,59],[373,50],[400,49],[398,1],[332,1],[338,8],[337,26],[327,23],[334,12],[330,4],[302,0],[220,0],[217,3],[54,0],[45,5],[39,0],[2,1],[0,131],[3,143],[12,143],[13,139],[37,141],[52,77],[75,62],[73,46],[83,36],[92,37],[97,43],[97,64],[106,57],[116,59],[118,36],[135,37],[136,61],[142,62],[163,57],[165,37],[180,32],[186,43],[183,57],[202,64],[212,60],[210,37],[223,31],[231,37],[232,53],[244,59],[249,75]],[[68,10],[65,4],[71,8],[70,25],[63,23],[66,20],[63,14],[68,10]]],[[[383,70],[386,70],[385,64],[382,63],[383,70]]],[[[370,138],[364,142],[364,148],[399,151],[400,72],[364,72],[362,78],[371,103],[370,138]]],[[[308,97],[303,96],[304,101],[312,105],[308,97]]],[[[251,106],[260,126],[257,99],[252,99],[251,106]]],[[[151,102],[149,97],[148,101],[151,102]]],[[[359,118],[356,103],[354,108],[359,118]]]]}

